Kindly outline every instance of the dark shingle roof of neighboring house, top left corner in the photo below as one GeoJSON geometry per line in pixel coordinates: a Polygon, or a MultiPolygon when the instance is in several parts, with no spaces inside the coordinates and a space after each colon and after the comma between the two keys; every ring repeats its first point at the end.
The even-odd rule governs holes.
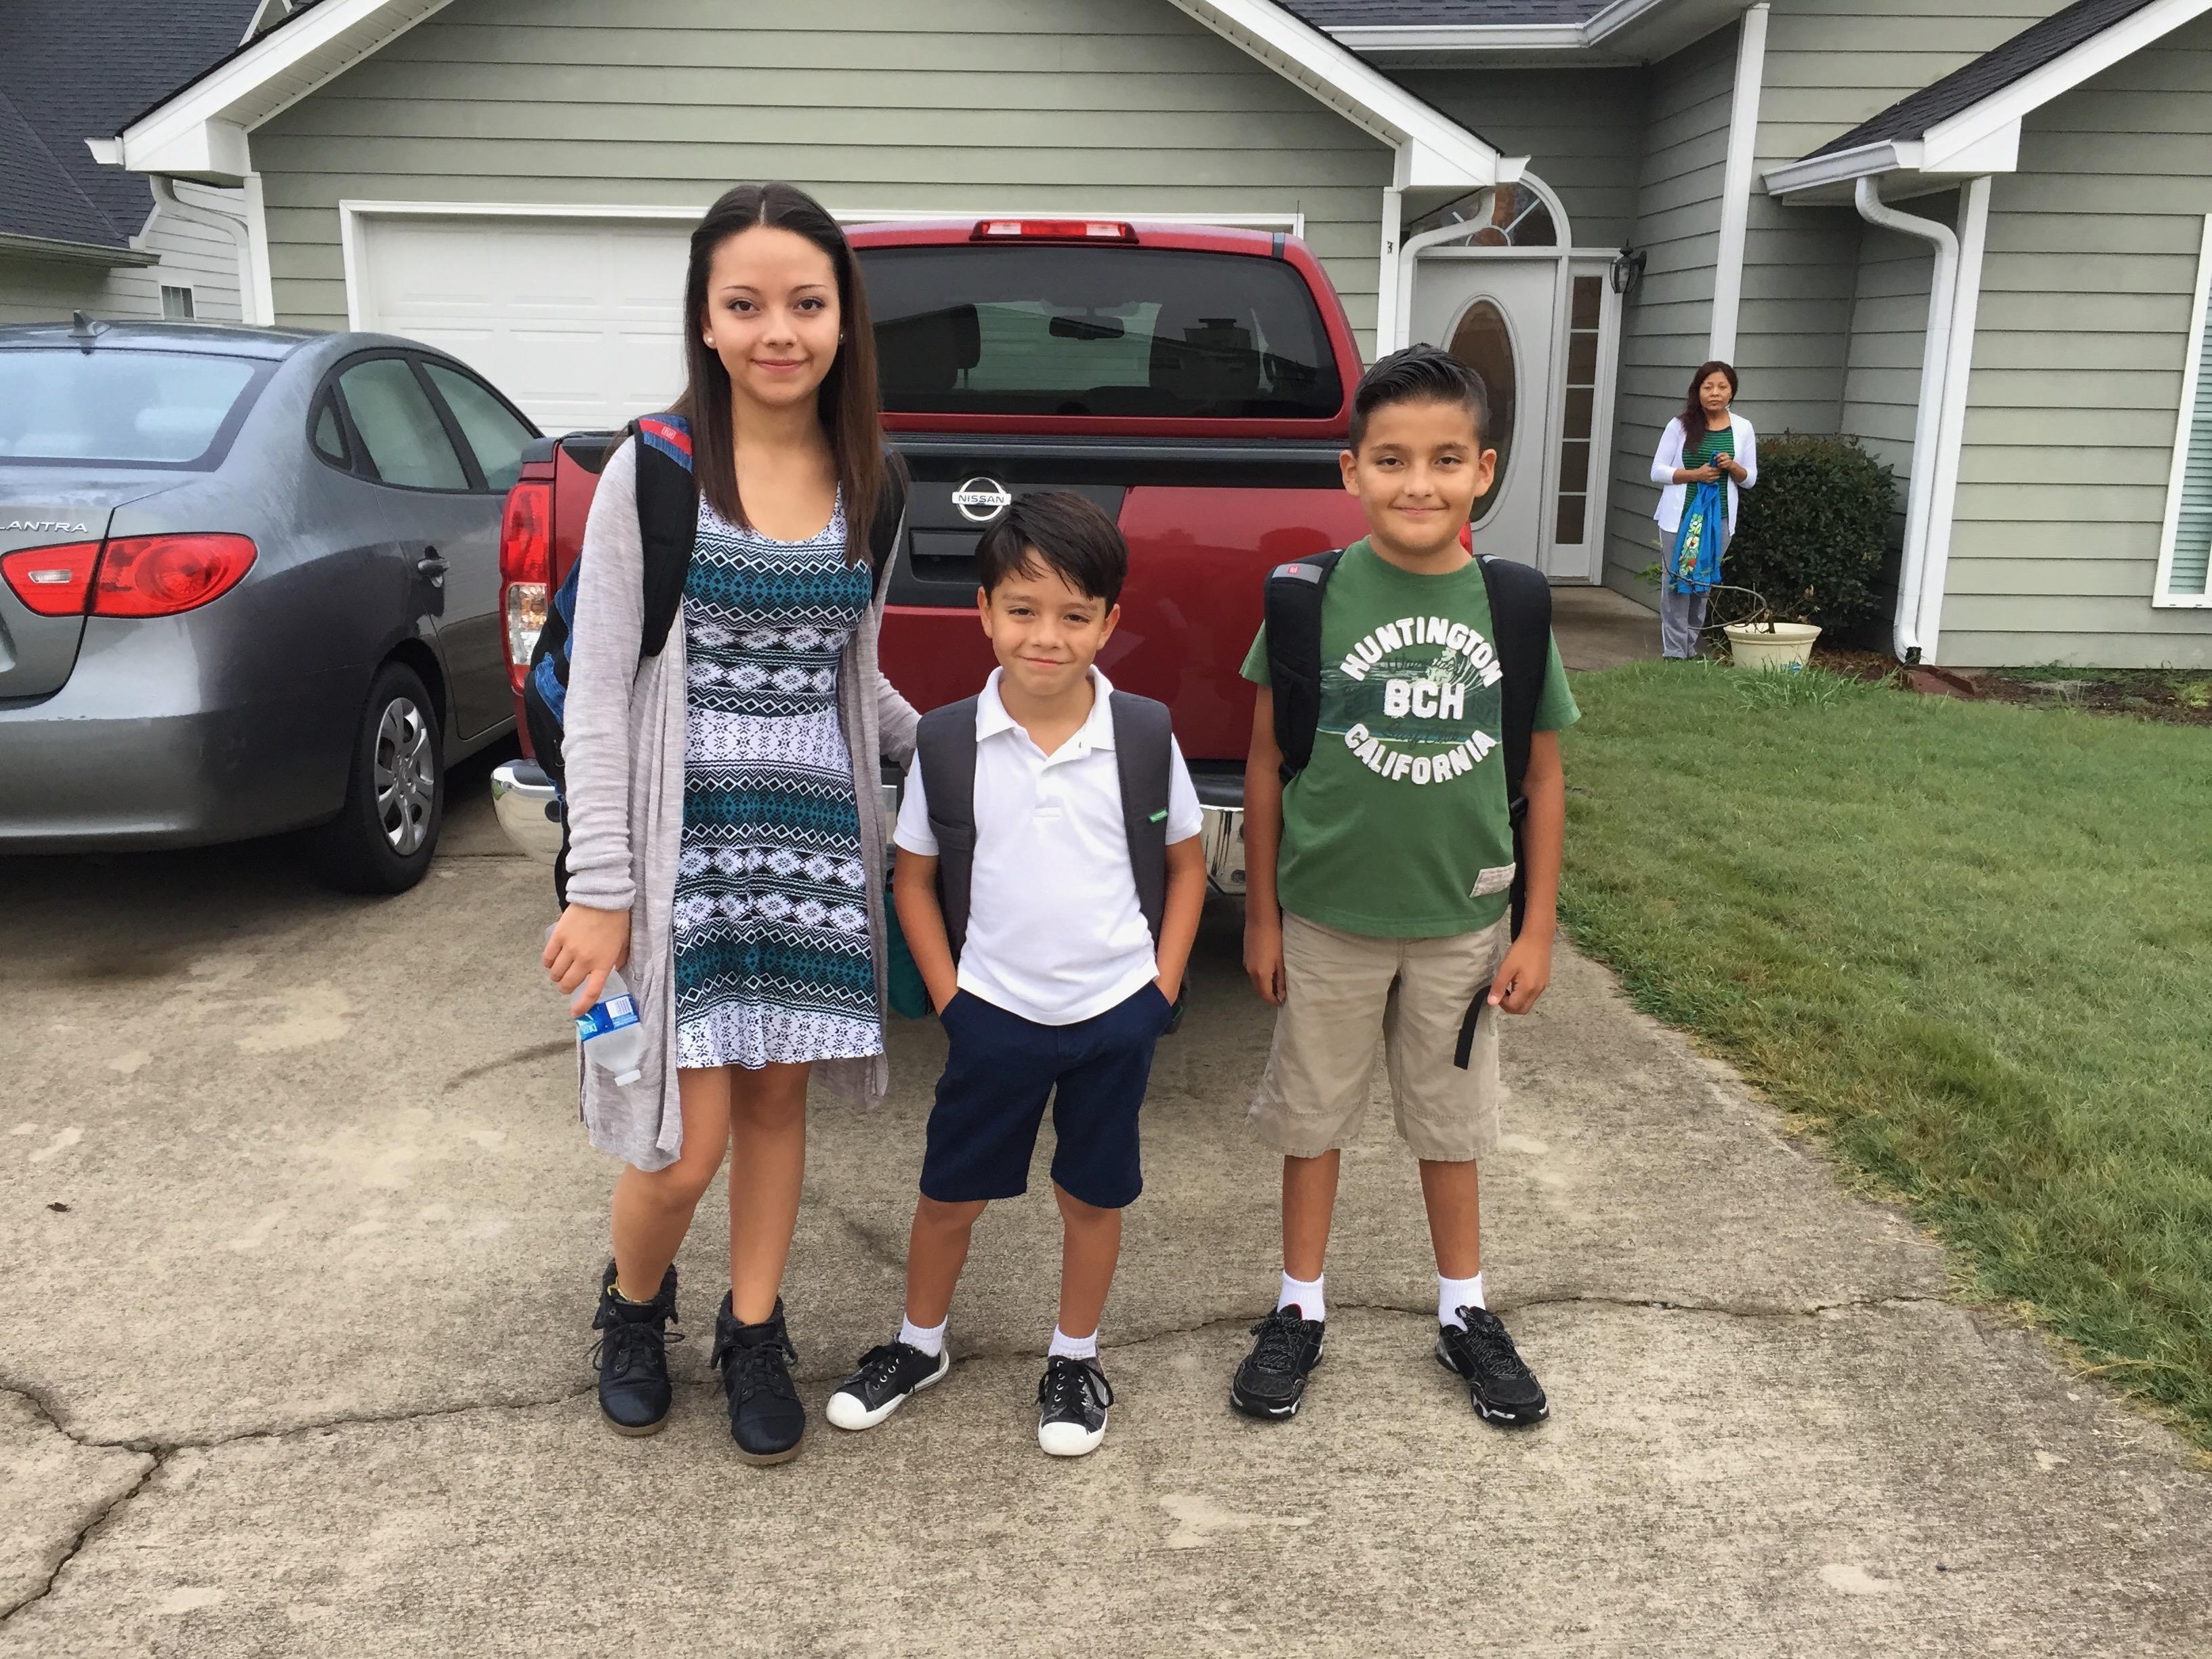
{"type": "Polygon", "coordinates": [[[124,248],[153,212],[144,175],[84,148],[246,33],[257,0],[0,4],[0,232],[124,248]]]}

